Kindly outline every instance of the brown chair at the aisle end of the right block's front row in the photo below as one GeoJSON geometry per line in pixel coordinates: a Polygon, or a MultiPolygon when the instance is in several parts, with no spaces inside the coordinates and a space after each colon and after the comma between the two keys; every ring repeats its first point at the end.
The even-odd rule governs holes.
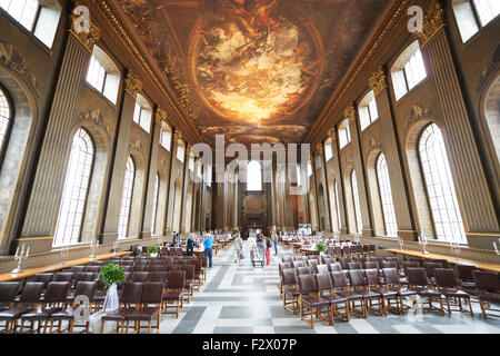
{"type": "MultiPolygon", "coordinates": [[[[313,275],[301,275],[298,276],[299,280],[299,306],[300,306],[300,319],[307,323],[311,328],[314,328],[314,313],[317,315],[316,320],[327,320],[328,318],[322,317],[320,309],[327,308],[328,315],[330,314],[330,301],[324,299],[323,297],[318,296],[318,283],[313,275]],[[307,320],[306,317],[310,317],[310,320],[307,320]]],[[[329,323],[330,324],[330,323],[329,323]]]]}

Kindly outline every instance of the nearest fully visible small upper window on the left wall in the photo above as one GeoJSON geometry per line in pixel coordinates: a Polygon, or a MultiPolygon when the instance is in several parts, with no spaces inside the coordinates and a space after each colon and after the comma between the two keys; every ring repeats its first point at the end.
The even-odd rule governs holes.
{"type": "Polygon", "coordinates": [[[117,103],[120,71],[111,58],[98,46],[93,47],[87,81],[112,103],[117,103]]]}

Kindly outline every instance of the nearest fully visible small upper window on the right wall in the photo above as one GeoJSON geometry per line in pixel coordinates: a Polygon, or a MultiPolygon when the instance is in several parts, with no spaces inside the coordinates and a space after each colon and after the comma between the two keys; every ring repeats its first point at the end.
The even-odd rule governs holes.
{"type": "Polygon", "coordinates": [[[391,70],[396,99],[401,99],[427,77],[419,42],[414,41],[398,58],[391,70]]]}

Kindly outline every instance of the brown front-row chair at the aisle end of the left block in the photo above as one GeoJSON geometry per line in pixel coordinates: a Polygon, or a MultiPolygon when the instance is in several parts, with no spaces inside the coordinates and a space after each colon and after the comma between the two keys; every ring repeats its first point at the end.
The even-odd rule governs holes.
{"type": "Polygon", "coordinates": [[[148,323],[147,326],[148,334],[151,334],[152,328],[156,329],[156,334],[160,333],[160,317],[161,317],[162,301],[163,301],[162,283],[144,283],[142,285],[141,308],[127,315],[127,322],[134,323],[134,330],[133,330],[134,334],[139,334],[141,328],[144,328],[141,326],[141,322],[148,323]],[[156,325],[152,325],[153,320],[157,320],[156,325]]]}

